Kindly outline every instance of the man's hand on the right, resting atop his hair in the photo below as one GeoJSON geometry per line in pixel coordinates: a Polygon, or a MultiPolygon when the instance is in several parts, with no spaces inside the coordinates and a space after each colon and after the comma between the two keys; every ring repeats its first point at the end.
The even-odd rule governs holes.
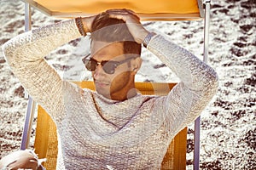
{"type": "Polygon", "coordinates": [[[139,16],[135,12],[130,9],[109,9],[106,13],[111,18],[124,20],[135,41],[137,43],[143,43],[149,32],[143,27],[139,16]]]}

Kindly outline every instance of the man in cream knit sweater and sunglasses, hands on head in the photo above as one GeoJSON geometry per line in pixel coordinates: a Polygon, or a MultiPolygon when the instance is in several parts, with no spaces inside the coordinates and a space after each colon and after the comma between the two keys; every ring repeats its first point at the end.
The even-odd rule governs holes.
{"type": "Polygon", "coordinates": [[[20,82],[54,119],[58,169],[160,169],[173,137],[193,122],[218,87],[211,67],[166,37],[148,32],[137,14],[112,9],[26,32],[3,46],[20,82]],[[96,93],[66,82],[44,56],[91,34],[96,93]],[[137,94],[141,44],[181,79],[165,97],[137,94]]]}

